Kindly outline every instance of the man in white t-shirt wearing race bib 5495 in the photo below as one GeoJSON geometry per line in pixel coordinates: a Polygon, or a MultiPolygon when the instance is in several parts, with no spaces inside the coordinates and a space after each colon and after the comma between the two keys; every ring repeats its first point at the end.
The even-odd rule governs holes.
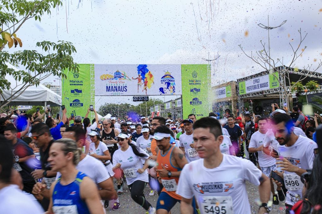
{"type": "Polygon", "coordinates": [[[246,181],[259,185],[262,204],[258,213],[269,212],[270,180],[251,161],[222,154],[222,141],[218,120],[204,117],[195,122],[194,147],[201,159],[186,164],[181,171],[176,190],[182,196],[181,213],[193,213],[191,204],[195,196],[201,213],[216,210],[250,214],[246,181]]]}

